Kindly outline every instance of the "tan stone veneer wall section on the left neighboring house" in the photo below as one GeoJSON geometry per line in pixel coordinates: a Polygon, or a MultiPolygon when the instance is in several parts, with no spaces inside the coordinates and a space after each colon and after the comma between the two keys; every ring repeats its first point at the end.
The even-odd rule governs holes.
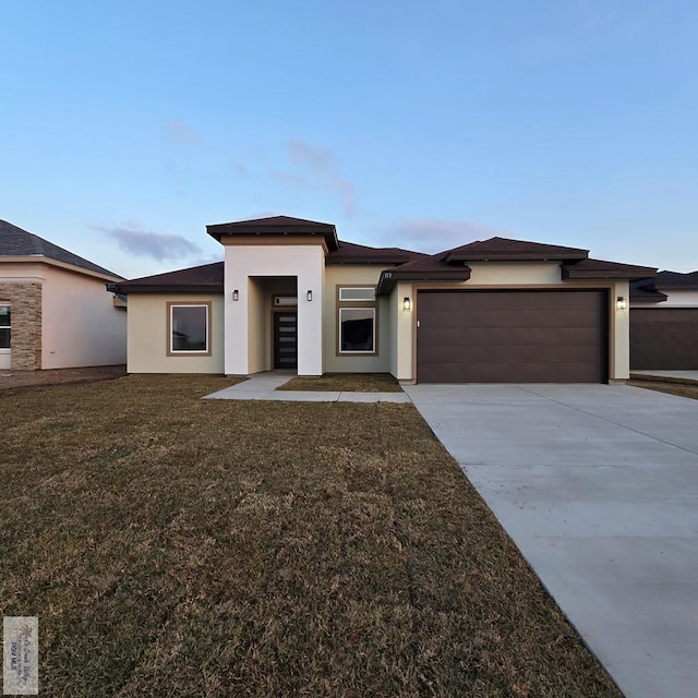
{"type": "Polygon", "coordinates": [[[12,369],[41,368],[41,285],[36,281],[0,282],[0,301],[11,305],[12,369]]]}

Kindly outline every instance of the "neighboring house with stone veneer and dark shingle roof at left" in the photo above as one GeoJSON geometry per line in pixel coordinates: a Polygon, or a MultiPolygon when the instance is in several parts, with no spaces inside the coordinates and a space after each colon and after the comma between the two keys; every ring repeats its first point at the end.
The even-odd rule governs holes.
{"type": "Polygon", "coordinates": [[[125,363],[122,277],[0,220],[0,369],[125,363]]]}

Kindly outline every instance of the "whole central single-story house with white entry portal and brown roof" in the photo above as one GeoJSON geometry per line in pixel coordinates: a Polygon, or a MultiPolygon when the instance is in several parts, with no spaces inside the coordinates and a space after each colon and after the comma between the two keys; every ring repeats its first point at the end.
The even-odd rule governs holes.
{"type": "Polygon", "coordinates": [[[132,373],[385,372],[422,383],[628,377],[628,285],[657,269],[492,238],[434,255],[278,216],[214,225],[225,262],[116,285],[132,373]]]}

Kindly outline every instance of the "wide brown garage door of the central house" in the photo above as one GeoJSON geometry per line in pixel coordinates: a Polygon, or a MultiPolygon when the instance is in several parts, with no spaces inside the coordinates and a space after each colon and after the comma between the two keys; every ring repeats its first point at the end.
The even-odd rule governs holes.
{"type": "Polygon", "coordinates": [[[420,383],[603,383],[605,291],[420,291],[420,383]]]}

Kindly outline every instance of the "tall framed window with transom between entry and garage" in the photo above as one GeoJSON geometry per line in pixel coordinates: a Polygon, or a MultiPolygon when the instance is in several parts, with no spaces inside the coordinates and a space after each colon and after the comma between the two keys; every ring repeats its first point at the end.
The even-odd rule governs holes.
{"type": "Polygon", "coordinates": [[[376,302],[371,287],[341,287],[337,294],[339,354],[376,353],[376,302]]]}

